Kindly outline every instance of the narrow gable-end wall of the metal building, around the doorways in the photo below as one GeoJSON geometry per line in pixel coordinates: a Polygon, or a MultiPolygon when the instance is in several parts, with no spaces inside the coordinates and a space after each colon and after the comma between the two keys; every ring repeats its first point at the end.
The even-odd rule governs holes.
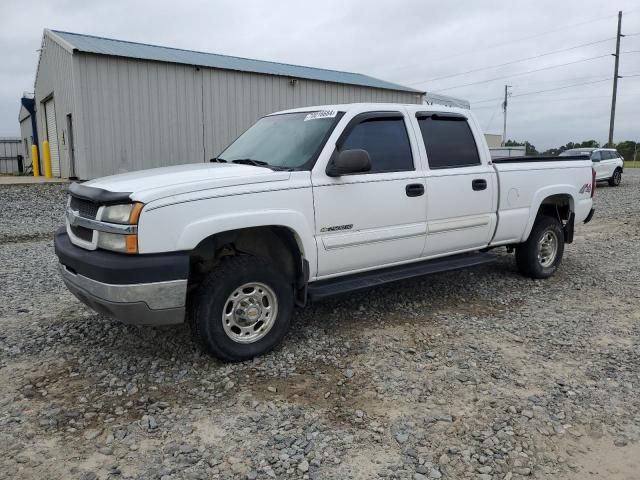
{"type": "Polygon", "coordinates": [[[42,156],[42,142],[46,137],[46,119],[43,102],[53,95],[56,109],[56,126],[58,136],[58,152],[62,177],[69,176],[69,149],[66,116],[74,111],[73,59],[69,52],[44,36],[43,51],[36,74],[35,101],[38,124],[38,152],[42,156]]]}

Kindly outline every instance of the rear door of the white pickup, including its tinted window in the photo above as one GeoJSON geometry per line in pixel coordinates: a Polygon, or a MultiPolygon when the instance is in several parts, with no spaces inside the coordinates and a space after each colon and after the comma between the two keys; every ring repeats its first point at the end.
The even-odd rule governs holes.
{"type": "Polygon", "coordinates": [[[469,119],[458,113],[416,115],[426,158],[427,241],[423,256],[487,246],[496,223],[496,173],[481,158],[469,119]]]}

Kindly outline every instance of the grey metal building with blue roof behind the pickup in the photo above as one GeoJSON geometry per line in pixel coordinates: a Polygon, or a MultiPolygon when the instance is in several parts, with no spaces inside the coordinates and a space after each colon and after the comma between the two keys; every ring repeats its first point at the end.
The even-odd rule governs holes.
{"type": "Polygon", "coordinates": [[[422,103],[357,73],[45,30],[36,137],[54,176],[90,179],[215,157],[259,117],[329,103],[422,103]]]}

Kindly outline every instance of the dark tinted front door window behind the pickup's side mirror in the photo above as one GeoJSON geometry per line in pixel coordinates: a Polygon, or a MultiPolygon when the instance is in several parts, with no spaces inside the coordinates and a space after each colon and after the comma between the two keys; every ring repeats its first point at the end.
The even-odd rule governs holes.
{"type": "Polygon", "coordinates": [[[340,150],[360,148],[371,158],[371,172],[413,170],[413,157],[404,120],[372,118],[356,125],[340,150]]]}

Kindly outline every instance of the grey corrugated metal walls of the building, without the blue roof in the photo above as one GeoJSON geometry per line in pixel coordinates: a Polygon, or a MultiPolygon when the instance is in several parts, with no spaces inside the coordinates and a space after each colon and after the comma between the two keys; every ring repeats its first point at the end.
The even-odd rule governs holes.
{"type": "Polygon", "coordinates": [[[351,102],[420,103],[413,93],[135,60],[64,50],[45,35],[36,79],[53,93],[62,176],[69,176],[67,114],[73,115],[75,175],[197,163],[214,157],[259,117],[286,108],[351,102]],[[75,87],[75,88],[74,88],[75,87]]]}

